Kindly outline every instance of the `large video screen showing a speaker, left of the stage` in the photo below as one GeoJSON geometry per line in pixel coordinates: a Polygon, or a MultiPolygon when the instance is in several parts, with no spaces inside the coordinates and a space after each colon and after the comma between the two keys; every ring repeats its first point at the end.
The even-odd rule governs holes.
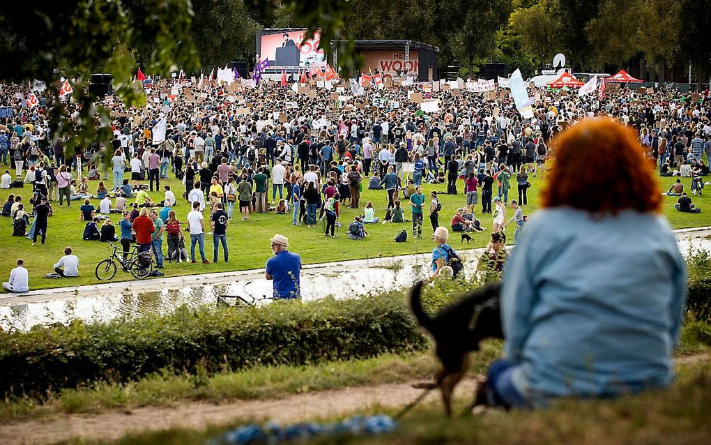
{"type": "Polygon", "coordinates": [[[326,63],[323,50],[319,50],[321,30],[316,30],[314,38],[304,44],[306,29],[269,29],[257,36],[257,53],[260,60],[269,59],[269,66],[306,66],[306,64],[326,63]]]}

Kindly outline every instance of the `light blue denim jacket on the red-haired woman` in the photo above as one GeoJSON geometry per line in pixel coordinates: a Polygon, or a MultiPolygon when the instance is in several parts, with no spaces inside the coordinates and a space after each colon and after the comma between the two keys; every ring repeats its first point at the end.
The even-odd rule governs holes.
{"type": "Polygon", "coordinates": [[[685,296],[685,263],[661,216],[538,211],[504,271],[514,387],[541,406],[669,384],[685,296]]]}

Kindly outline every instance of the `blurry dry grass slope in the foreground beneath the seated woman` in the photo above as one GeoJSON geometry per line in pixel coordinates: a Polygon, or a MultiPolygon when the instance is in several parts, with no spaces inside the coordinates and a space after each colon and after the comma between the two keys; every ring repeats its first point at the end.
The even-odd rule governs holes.
{"type": "MultiPolygon", "coordinates": [[[[608,401],[568,400],[535,412],[488,410],[481,416],[444,417],[439,400],[423,402],[400,421],[390,434],[380,436],[326,437],[314,444],[707,444],[711,435],[711,362],[687,362],[677,366],[678,381],[672,387],[634,397],[608,401]]],[[[469,399],[456,399],[461,411],[469,399]]],[[[364,407],[333,417],[324,413],[321,422],[333,422],[351,415],[384,413],[399,409],[364,407]]],[[[304,419],[306,421],[306,419],[304,419]]],[[[229,429],[252,423],[235,419],[229,425],[207,425],[201,429],[174,428],[142,434],[128,434],[121,445],[202,444],[229,429]]],[[[63,443],[76,443],[68,441],[63,443]]],[[[82,441],[88,443],[88,441],[82,441]]],[[[93,442],[92,442],[93,443],[93,442]]],[[[214,442],[219,443],[219,442],[214,442]]]]}

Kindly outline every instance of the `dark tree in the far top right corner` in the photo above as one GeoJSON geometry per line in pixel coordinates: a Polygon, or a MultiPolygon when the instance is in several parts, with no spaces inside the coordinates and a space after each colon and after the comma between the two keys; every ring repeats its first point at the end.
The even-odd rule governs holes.
{"type": "Polygon", "coordinates": [[[693,66],[697,79],[706,83],[711,76],[711,8],[709,2],[680,0],[681,53],[693,66]]]}

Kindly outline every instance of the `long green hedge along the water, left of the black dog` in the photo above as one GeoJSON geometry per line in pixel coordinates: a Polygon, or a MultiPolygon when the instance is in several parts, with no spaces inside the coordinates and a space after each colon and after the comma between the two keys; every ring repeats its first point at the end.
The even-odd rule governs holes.
{"type": "Polygon", "coordinates": [[[0,334],[0,394],[42,395],[151,372],[300,365],[423,350],[403,293],[171,315],[0,334]]]}

